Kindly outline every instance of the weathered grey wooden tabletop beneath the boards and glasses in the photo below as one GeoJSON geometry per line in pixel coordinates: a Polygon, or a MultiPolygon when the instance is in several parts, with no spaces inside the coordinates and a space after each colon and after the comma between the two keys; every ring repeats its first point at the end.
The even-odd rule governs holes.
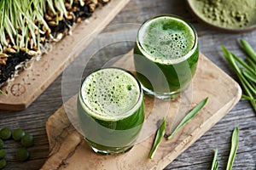
{"type": "MultiPolygon", "coordinates": [[[[240,34],[213,31],[197,22],[189,14],[186,3],[183,0],[131,0],[109,24],[108,29],[102,31],[99,35],[102,41],[107,43],[104,44],[102,41],[96,42],[96,45],[102,49],[98,50],[99,48],[94,46],[92,52],[96,52],[96,54],[90,60],[89,70],[97,68],[102,63],[104,64],[106,62],[104,56],[117,56],[128,52],[133,46],[131,40],[134,39],[129,37],[129,32],[135,31],[136,25],[142,23],[143,20],[147,20],[149,17],[157,14],[176,14],[189,20],[198,32],[201,53],[205,54],[208,59],[211,59],[213,63],[234,79],[236,79],[236,76],[225,61],[220,45],[224,44],[240,57],[243,57],[244,54],[242,54],[241,48],[237,44],[239,38],[246,39],[256,49],[256,31],[240,34]]],[[[90,57],[88,53],[91,53],[91,50],[89,51],[84,49],[84,52],[79,57],[90,57]]],[[[9,127],[15,129],[20,127],[27,133],[32,133],[35,139],[34,146],[29,149],[31,157],[28,161],[24,162],[15,160],[15,150],[20,148],[20,144],[12,140],[6,141],[5,150],[8,152],[6,156],[8,165],[4,169],[20,170],[39,169],[42,167],[49,152],[45,122],[62,103],[60,76],[26,111],[0,111],[0,128],[9,127]]],[[[240,128],[240,138],[233,169],[256,169],[255,122],[256,114],[253,112],[251,105],[249,105],[247,100],[241,99],[232,111],[205,133],[201,139],[198,139],[195,144],[192,144],[188,150],[185,150],[182,155],[178,156],[175,161],[170,162],[166,169],[210,169],[213,150],[215,149],[218,149],[219,169],[224,169],[230,154],[231,133],[235,127],[240,128]]]]}

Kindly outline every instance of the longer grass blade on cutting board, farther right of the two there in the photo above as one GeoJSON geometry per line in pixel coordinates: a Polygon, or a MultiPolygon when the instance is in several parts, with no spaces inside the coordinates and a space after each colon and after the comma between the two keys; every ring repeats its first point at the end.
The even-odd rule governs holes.
{"type": "Polygon", "coordinates": [[[187,122],[189,122],[198,111],[201,111],[201,108],[203,108],[203,106],[207,104],[207,100],[208,98],[203,99],[198,105],[195,106],[192,111],[189,111],[189,114],[183,118],[183,120],[177,125],[177,127],[174,129],[172,134],[168,136],[167,139],[172,139],[172,137],[178,132],[180,128],[182,128],[187,122]]]}

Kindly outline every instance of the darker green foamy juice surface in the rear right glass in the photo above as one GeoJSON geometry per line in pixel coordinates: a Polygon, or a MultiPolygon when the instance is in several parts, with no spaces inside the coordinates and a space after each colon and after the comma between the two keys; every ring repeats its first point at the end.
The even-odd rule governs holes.
{"type": "Polygon", "coordinates": [[[144,55],[162,64],[174,64],[187,59],[195,45],[195,33],[188,23],[172,16],[148,20],[138,35],[137,41],[147,52],[144,55]]]}

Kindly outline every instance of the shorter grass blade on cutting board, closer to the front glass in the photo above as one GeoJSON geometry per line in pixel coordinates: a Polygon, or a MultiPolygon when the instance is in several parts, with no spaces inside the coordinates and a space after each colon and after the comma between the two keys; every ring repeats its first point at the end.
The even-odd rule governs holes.
{"type": "Polygon", "coordinates": [[[166,133],[166,118],[163,119],[163,122],[160,124],[160,127],[157,129],[157,132],[154,138],[154,144],[148,156],[150,159],[153,158],[154,153],[157,150],[158,146],[160,145],[160,142],[163,139],[165,133],[166,133]]]}

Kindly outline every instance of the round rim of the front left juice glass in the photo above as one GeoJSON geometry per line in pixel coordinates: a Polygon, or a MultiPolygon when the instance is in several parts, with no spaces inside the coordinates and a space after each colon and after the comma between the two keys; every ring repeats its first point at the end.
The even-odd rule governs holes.
{"type": "Polygon", "coordinates": [[[79,99],[78,102],[80,102],[80,100],[82,101],[82,102],[80,102],[81,106],[84,108],[84,110],[90,116],[95,117],[96,119],[99,119],[99,120],[102,120],[102,121],[119,121],[119,120],[122,120],[122,119],[124,119],[126,117],[131,116],[132,113],[137,111],[137,109],[142,105],[142,103],[143,103],[143,88],[142,88],[141,83],[131,73],[131,71],[127,71],[127,70],[125,70],[123,68],[119,68],[119,67],[115,67],[115,66],[103,67],[103,68],[99,68],[99,69],[96,69],[94,71],[91,71],[86,77],[84,77],[83,81],[81,82],[80,88],[79,88],[79,98],[80,99],[79,99]],[[90,75],[95,73],[96,71],[102,71],[102,70],[105,70],[105,69],[116,69],[116,70],[124,71],[125,73],[128,73],[137,82],[137,86],[139,88],[139,95],[138,95],[137,102],[131,107],[131,110],[125,111],[125,112],[122,112],[121,114],[119,114],[121,116],[119,116],[117,119],[108,118],[108,117],[106,118],[104,116],[100,116],[100,114],[90,114],[90,112],[97,113],[97,111],[92,111],[91,108],[88,105],[86,105],[86,103],[84,102],[83,96],[82,96],[83,84],[84,84],[86,78],[90,77],[90,75]]]}

